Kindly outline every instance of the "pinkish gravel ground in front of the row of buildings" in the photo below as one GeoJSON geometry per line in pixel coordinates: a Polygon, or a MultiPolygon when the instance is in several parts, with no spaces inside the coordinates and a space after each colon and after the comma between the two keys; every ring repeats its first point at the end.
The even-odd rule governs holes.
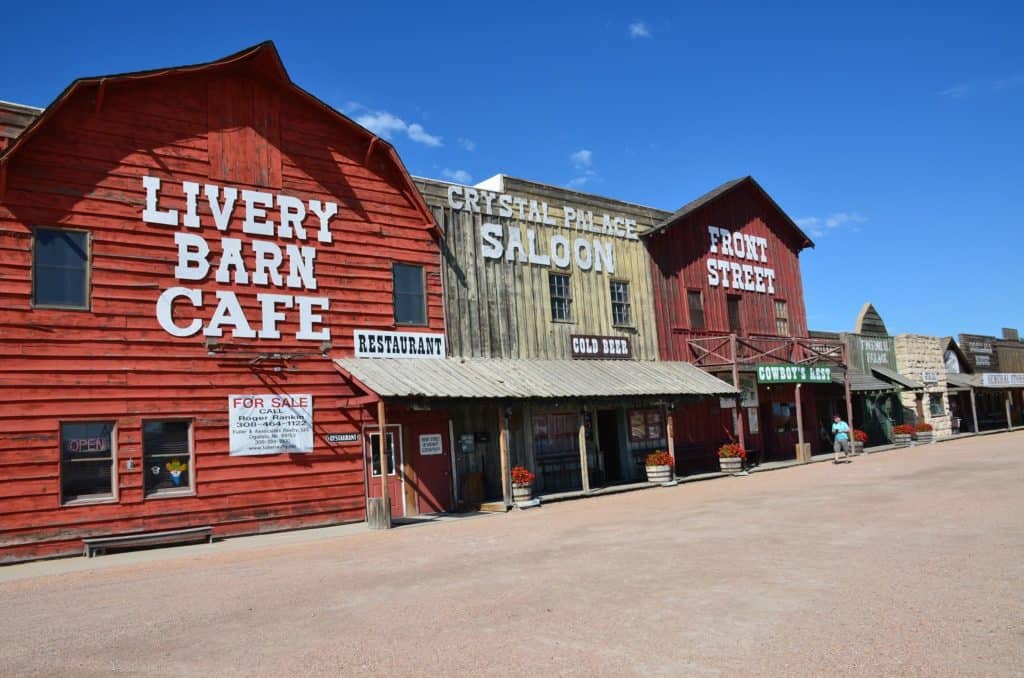
{"type": "Polygon", "coordinates": [[[1022,675],[1022,449],[14,565],[0,674],[1022,675]]]}

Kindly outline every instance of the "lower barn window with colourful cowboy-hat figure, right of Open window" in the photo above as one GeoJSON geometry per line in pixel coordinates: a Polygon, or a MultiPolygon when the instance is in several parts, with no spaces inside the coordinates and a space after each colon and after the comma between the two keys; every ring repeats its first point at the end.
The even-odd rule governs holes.
{"type": "Polygon", "coordinates": [[[191,489],[191,422],[142,422],[142,484],[146,495],[191,489]]]}

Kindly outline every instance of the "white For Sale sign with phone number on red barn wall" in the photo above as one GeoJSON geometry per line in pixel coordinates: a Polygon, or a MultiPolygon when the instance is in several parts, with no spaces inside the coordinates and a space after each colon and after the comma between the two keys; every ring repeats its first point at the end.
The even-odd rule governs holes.
{"type": "Polygon", "coordinates": [[[313,451],[313,396],[228,395],[232,457],[313,451]]]}

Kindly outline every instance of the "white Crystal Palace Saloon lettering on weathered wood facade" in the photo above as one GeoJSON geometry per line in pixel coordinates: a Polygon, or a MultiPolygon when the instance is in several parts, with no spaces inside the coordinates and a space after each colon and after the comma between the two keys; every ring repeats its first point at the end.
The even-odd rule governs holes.
{"type": "Polygon", "coordinates": [[[558,218],[544,201],[460,185],[449,186],[447,202],[456,211],[527,224],[523,228],[484,218],[480,224],[484,259],[558,268],[574,263],[580,270],[614,273],[614,241],[610,239],[639,240],[636,219],[595,216],[593,210],[569,205],[560,206],[558,218]]]}

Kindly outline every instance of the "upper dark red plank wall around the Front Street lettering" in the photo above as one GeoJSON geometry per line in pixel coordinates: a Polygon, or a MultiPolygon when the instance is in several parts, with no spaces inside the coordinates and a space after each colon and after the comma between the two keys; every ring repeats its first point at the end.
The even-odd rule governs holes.
{"type": "Polygon", "coordinates": [[[753,186],[740,185],[712,201],[671,228],[652,236],[648,245],[663,358],[692,361],[687,337],[729,334],[726,297],[731,294],[742,298],[743,335],[776,336],[773,301],[783,299],[788,307],[790,336],[807,336],[798,237],[785,223],[784,215],[753,186]],[[774,295],[708,284],[708,257],[729,259],[709,253],[709,225],[767,239],[768,262],[761,265],[775,270],[774,295]],[[690,326],[687,290],[703,293],[702,331],[690,326]]]}

